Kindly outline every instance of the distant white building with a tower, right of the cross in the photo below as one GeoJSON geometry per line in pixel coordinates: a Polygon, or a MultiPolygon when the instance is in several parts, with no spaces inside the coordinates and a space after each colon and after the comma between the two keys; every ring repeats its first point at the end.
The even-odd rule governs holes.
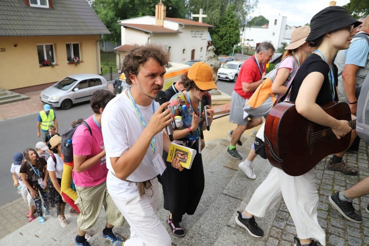
{"type": "Polygon", "coordinates": [[[256,44],[261,42],[271,42],[278,49],[282,43],[291,43],[291,32],[295,27],[290,27],[287,24],[285,16],[271,16],[269,24],[263,27],[246,28],[243,32],[244,45],[248,47],[256,47],[256,44]]]}

